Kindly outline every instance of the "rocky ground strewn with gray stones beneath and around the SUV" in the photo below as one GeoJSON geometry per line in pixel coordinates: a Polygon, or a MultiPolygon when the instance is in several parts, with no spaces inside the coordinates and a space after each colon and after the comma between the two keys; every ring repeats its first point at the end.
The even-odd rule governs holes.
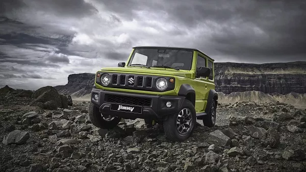
{"type": "Polygon", "coordinates": [[[0,171],[306,171],[306,111],[286,104],[219,104],[215,127],[171,142],[159,125],[97,129],[89,102],[20,92],[0,90],[0,171]]]}

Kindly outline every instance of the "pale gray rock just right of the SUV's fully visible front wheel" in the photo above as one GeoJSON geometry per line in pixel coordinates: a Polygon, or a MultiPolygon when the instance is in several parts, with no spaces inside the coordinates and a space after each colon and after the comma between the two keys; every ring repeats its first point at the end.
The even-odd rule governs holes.
{"type": "Polygon", "coordinates": [[[231,139],[223,134],[220,130],[216,130],[209,134],[207,142],[224,147],[231,144],[231,139]]]}

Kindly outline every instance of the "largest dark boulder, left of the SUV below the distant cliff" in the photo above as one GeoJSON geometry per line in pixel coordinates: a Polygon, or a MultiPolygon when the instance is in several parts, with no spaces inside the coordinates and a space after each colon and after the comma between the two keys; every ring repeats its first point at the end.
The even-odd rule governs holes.
{"type": "Polygon", "coordinates": [[[68,107],[67,101],[63,100],[64,98],[58,93],[57,89],[52,86],[39,88],[32,94],[32,98],[35,100],[31,102],[31,106],[39,104],[39,107],[49,110],[68,107]]]}

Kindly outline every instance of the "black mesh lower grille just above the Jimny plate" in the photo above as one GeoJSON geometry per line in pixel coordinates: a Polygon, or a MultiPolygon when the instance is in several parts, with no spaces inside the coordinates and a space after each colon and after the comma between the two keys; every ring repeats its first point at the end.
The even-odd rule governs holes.
{"type": "Polygon", "coordinates": [[[145,97],[105,94],[104,101],[108,103],[120,103],[126,105],[151,106],[151,99],[145,97]]]}

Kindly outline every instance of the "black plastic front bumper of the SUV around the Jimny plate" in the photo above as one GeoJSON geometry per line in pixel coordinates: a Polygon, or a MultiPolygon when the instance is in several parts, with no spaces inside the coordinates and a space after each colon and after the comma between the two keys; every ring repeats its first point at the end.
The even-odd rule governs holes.
{"type": "Polygon", "coordinates": [[[120,91],[106,91],[101,89],[93,88],[91,91],[91,102],[99,108],[99,111],[102,114],[109,114],[113,116],[122,117],[125,119],[155,119],[155,120],[164,120],[169,114],[176,113],[180,110],[183,102],[185,101],[185,97],[183,96],[169,96],[169,95],[152,95],[152,94],[139,94],[139,93],[128,93],[128,92],[120,92],[120,91]],[[94,94],[98,94],[99,99],[94,100],[94,94]],[[132,99],[150,99],[150,104],[141,106],[132,104],[133,101],[118,103],[109,101],[106,97],[108,96],[121,96],[126,98],[126,100],[132,99]],[[166,103],[171,102],[171,107],[166,107],[166,103]],[[141,113],[133,113],[126,111],[115,111],[111,110],[111,104],[120,104],[122,106],[141,106],[141,113]]]}

